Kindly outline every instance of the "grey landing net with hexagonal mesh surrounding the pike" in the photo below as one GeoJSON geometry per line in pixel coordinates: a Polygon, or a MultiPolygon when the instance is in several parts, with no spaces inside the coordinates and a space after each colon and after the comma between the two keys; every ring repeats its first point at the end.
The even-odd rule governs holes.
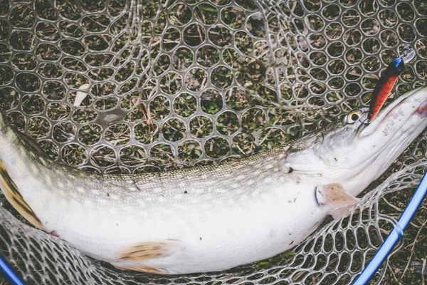
{"type": "MultiPolygon", "coordinates": [[[[0,106],[49,156],[82,171],[206,165],[367,106],[408,43],[416,58],[394,97],[425,85],[426,15],[423,0],[0,1],[0,106]]],[[[29,284],[349,284],[425,157],[421,135],[349,217],[230,271],[117,271],[23,224],[2,196],[0,249],[29,284]]]]}

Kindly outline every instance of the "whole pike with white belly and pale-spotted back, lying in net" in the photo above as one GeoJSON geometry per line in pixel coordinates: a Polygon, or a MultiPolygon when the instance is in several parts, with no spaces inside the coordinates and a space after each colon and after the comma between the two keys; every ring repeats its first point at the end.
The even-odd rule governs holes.
{"type": "Polygon", "coordinates": [[[342,217],[427,126],[427,88],[286,147],[221,165],[141,175],[81,172],[0,120],[0,187],[39,229],[119,269],[219,271],[273,257],[342,217]]]}

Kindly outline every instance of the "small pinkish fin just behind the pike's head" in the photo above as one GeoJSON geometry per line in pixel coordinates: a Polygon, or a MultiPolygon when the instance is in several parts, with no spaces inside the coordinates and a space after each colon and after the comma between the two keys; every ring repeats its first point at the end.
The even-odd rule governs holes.
{"type": "Polygon", "coordinates": [[[359,199],[349,194],[339,183],[316,187],[315,195],[318,204],[330,207],[330,214],[334,219],[342,217],[348,209],[359,202],[359,199]]]}

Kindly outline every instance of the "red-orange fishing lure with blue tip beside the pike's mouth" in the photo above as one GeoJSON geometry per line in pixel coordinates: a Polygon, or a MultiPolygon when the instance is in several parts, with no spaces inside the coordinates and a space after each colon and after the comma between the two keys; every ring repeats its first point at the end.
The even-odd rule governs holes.
{"type": "Polygon", "coordinates": [[[391,92],[391,89],[394,87],[394,84],[397,81],[400,73],[404,70],[406,63],[412,60],[415,57],[415,51],[413,48],[407,47],[402,56],[391,61],[389,66],[387,66],[384,75],[379,78],[378,83],[372,92],[371,105],[369,106],[369,115],[368,121],[374,120],[376,115],[378,115],[379,110],[386,102],[387,97],[391,92]]]}

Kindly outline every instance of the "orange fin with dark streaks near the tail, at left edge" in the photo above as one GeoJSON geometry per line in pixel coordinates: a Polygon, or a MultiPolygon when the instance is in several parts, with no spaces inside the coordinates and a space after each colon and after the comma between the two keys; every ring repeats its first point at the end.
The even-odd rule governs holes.
{"type": "Polygon", "coordinates": [[[43,229],[40,219],[33,212],[33,209],[25,202],[15,182],[9,176],[6,166],[0,160],[0,188],[11,205],[22,215],[28,222],[38,229],[43,229]]]}

